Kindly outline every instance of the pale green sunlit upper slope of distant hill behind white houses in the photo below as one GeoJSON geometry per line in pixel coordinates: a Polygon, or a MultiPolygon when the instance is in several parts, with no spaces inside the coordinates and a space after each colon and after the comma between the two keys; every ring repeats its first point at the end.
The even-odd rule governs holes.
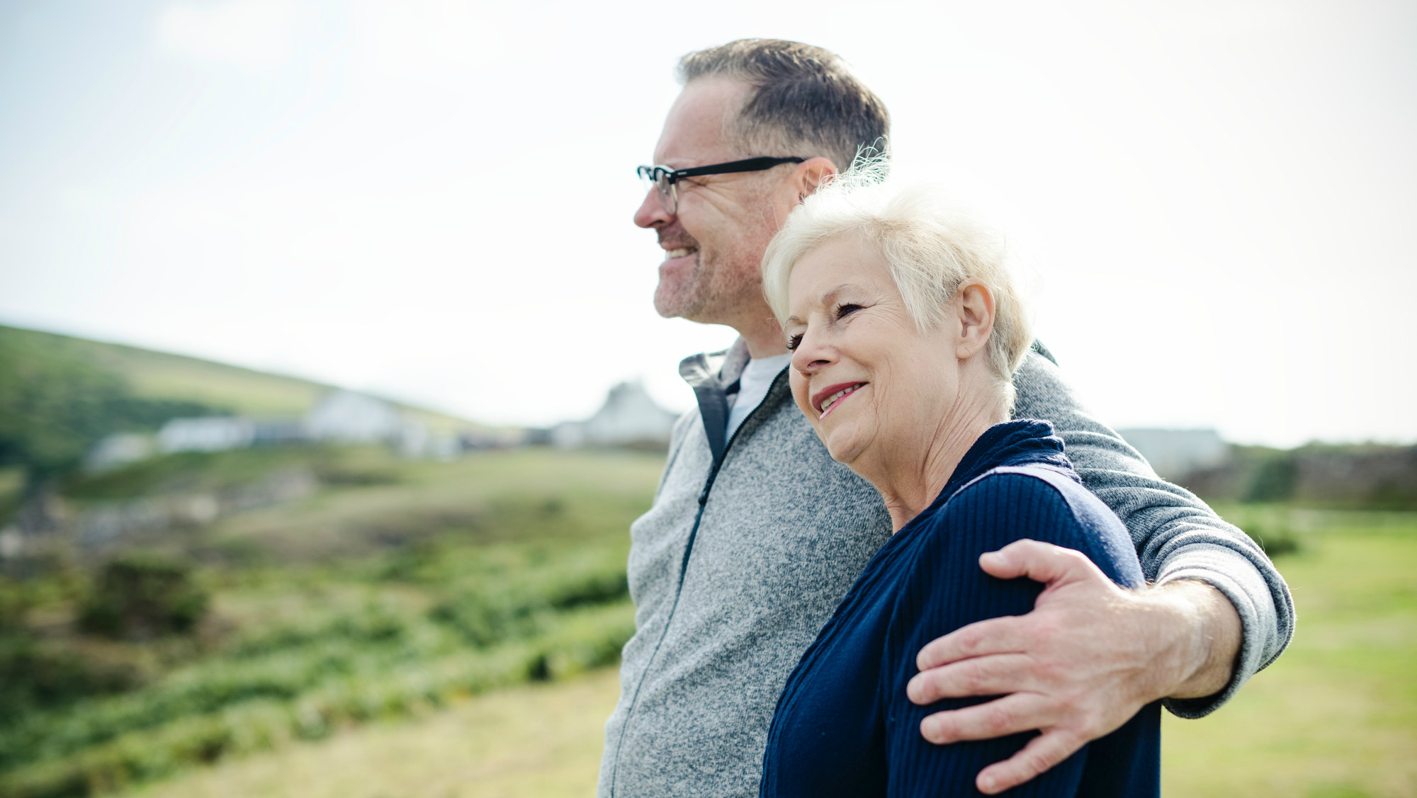
{"type": "MultiPolygon", "coordinates": [[[[298,376],[18,327],[0,325],[0,351],[3,349],[57,359],[82,359],[120,378],[132,395],[140,399],[193,402],[241,416],[298,416],[334,388],[298,376]]],[[[436,432],[486,429],[465,419],[393,403],[436,432]]]]}

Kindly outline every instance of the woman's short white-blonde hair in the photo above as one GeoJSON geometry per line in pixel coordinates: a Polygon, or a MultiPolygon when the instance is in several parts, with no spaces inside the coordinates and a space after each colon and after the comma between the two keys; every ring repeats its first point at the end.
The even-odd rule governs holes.
{"type": "Polygon", "coordinates": [[[762,256],[762,290],[784,323],[788,280],[806,253],[839,238],[873,245],[886,259],[905,310],[921,330],[944,321],[955,290],[973,277],[993,294],[988,364],[999,379],[1005,406],[1013,407],[1013,372],[1033,335],[1019,291],[992,231],[954,208],[938,190],[898,188],[883,158],[857,158],[852,168],[802,201],[762,256]]]}

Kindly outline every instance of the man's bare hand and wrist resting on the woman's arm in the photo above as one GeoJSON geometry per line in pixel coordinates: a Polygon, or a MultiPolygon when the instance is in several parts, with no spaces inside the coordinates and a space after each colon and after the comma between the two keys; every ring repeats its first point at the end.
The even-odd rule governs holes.
{"type": "Polygon", "coordinates": [[[1206,696],[1230,681],[1240,615],[1206,583],[1125,590],[1083,553],[1037,540],[982,555],[979,566],[1047,587],[1026,615],[969,624],[920,649],[907,693],[918,705],[1002,696],[925,717],[931,743],[1041,732],[981,771],[981,792],[1029,781],[1156,699],[1206,696]]]}

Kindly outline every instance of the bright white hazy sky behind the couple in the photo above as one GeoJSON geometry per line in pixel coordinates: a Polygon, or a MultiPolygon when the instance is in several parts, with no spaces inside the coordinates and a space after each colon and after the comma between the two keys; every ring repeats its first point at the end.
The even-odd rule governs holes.
{"type": "Polygon", "coordinates": [[[1114,426],[1417,440],[1417,4],[0,3],[0,323],[492,423],[666,405],[631,215],[686,51],[829,47],[1114,426]],[[867,10],[869,8],[869,10],[867,10]]]}

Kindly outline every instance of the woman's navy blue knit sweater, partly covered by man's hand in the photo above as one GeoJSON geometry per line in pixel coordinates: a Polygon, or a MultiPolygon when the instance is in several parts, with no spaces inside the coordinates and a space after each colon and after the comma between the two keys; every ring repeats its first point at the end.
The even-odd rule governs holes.
{"type": "MultiPolygon", "coordinates": [[[[828,498],[829,499],[829,498],[828,498]]],[[[1032,538],[1085,553],[1114,582],[1142,583],[1127,529],[1083,488],[1046,422],[1009,422],[969,449],[932,505],[903,526],[788,678],[768,732],[765,797],[979,795],[975,777],[1036,733],[935,746],[920,722],[988,699],[915,706],[905,683],[931,640],[1022,615],[1041,586],[1000,580],[979,555],[1032,538]]],[[[1007,795],[1161,794],[1159,703],[1007,795]]]]}

